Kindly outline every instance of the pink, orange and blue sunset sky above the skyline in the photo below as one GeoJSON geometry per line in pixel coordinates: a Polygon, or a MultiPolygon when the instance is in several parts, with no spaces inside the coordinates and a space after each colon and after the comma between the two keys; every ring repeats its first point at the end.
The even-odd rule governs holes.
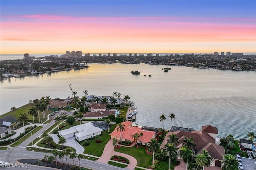
{"type": "Polygon", "coordinates": [[[0,53],[256,52],[256,1],[0,1],[0,53]]]}

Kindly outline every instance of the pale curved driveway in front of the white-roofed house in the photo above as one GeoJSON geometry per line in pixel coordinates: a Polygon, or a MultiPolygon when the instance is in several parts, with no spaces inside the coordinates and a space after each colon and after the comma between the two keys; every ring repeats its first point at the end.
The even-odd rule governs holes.
{"type": "MultiPolygon", "coordinates": [[[[56,134],[50,133],[49,135],[52,136],[54,143],[58,143],[58,140],[60,138],[56,134]]],[[[64,143],[63,145],[76,149],[76,153],[78,154],[84,152],[84,147],[82,147],[79,143],[75,141],[75,137],[67,138],[66,143],[64,143]]]]}

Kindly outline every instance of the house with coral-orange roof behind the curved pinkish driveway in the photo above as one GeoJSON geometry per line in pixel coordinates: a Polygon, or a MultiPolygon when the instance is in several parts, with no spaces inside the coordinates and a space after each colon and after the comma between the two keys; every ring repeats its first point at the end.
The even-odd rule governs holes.
{"type": "MultiPolygon", "coordinates": [[[[124,125],[124,131],[122,131],[122,141],[134,141],[134,137],[132,135],[138,133],[143,133],[142,137],[138,138],[138,143],[141,145],[146,146],[148,142],[150,142],[151,139],[154,139],[156,137],[155,131],[148,131],[141,127],[132,126],[131,121],[124,121],[122,123],[124,125]]],[[[116,138],[120,141],[120,130],[117,131],[116,127],[112,133],[110,133],[111,138],[116,138]]]]}

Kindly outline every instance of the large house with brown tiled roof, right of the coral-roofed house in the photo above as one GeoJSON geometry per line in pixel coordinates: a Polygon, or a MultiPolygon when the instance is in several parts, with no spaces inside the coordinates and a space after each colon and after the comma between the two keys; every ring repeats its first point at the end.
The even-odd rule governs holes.
{"type": "MultiPolygon", "coordinates": [[[[174,129],[174,128],[172,128],[174,129]]],[[[221,167],[221,162],[223,159],[223,155],[225,155],[224,147],[217,145],[216,137],[218,134],[218,129],[211,125],[202,126],[201,131],[194,131],[192,128],[175,128],[174,130],[168,132],[160,146],[160,149],[164,149],[164,145],[168,145],[168,136],[172,134],[176,134],[176,137],[179,137],[178,143],[175,145],[178,148],[178,158],[180,157],[180,148],[184,146],[185,142],[183,139],[193,138],[193,142],[196,143],[196,147],[192,147],[194,154],[203,153],[203,150],[208,152],[208,155],[212,157],[212,161],[210,166],[219,166],[221,167]]]]}

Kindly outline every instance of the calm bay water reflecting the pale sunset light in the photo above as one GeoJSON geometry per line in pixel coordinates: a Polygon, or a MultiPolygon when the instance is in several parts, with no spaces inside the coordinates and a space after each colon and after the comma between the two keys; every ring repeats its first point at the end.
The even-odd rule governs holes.
{"type": "Polygon", "coordinates": [[[233,134],[245,138],[247,132],[256,132],[255,71],[174,66],[164,72],[164,67],[93,63],[81,70],[4,79],[0,83],[0,114],[42,96],[67,98],[72,95],[72,84],[78,96],[84,90],[88,95],[129,95],[138,110],[138,125],[162,127],[159,116],[164,114],[164,128],[168,129],[168,115],[174,113],[174,126],[200,130],[202,125],[213,125],[218,127],[219,137],[233,134]],[[140,75],[130,73],[136,70],[140,75]]]}

